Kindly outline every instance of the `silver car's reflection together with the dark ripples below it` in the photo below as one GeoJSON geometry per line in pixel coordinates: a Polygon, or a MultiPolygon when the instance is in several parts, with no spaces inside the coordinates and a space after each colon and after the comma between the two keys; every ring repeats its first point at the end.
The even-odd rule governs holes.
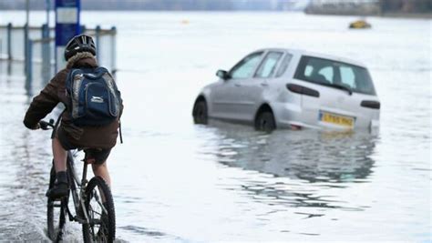
{"type": "MultiPolygon", "coordinates": [[[[246,178],[234,190],[245,191],[255,201],[270,206],[363,210],[330,192],[326,194],[324,189],[367,182],[373,173],[371,155],[377,137],[307,129],[267,134],[214,120],[210,127],[217,138],[208,140],[210,146],[203,153],[215,156],[222,165],[267,175],[263,180],[246,178]],[[271,177],[286,180],[274,182],[271,177]]],[[[296,213],[307,218],[324,216],[296,213]]]]}

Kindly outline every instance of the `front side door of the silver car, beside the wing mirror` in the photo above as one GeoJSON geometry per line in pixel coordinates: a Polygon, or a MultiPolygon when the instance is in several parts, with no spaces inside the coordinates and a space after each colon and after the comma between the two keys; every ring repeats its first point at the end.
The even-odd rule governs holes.
{"type": "Polygon", "coordinates": [[[212,89],[212,106],[214,116],[234,120],[242,120],[241,112],[245,103],[242,82],[250,80],[256,67],[262,60],[263,52],[255,52],[244,57],[228,73],[229,78],[221,81],[212,89]]]}

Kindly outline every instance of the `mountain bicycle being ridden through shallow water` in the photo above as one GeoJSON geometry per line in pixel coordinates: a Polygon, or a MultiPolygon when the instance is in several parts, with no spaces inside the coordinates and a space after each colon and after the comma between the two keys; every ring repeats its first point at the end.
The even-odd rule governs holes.
{"type": "MultiPolygon", "coordinates": [[[[40,121],[43,130],[55,129],[54,120],[40,121]]],[[[79,150],[77,150],[79,151],[79,150]]],[[[48,238],[58,242],[63,239],[67,218],[82,225],[84,242],[113,242],[116,237],[116,216],[114,201],[107,183],[102,177],[93,177],[87,182],[87,160],[84,162],[82,178],[77,177],[75,160],[77,151],[67,151],[67,180],[69,194],[60,199],[47,199],[48,238]],[[76,215],[68,206],[72,195],[76,215]]],[[[56,170],[51,167],[49,188],[54,186],[56,170]]]]}

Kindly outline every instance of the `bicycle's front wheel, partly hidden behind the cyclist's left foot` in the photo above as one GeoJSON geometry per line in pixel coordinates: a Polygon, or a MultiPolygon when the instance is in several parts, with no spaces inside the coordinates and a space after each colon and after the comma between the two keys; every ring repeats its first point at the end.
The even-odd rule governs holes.
{"type": "MultiPolygon", "coordinates": [[[[55,181],[56,170],[54,169],[54,167],[52,167],[49,177],[49,189],[54,187],[55,181]]],[[[47,233],[48,238],[55,242],[60,241],[63,237],[63,228],[65,227],[66,223],[67,198],[68,197],[64,197],[61,200],[52,200],[48,197],[47,200],[47,233]]]]}

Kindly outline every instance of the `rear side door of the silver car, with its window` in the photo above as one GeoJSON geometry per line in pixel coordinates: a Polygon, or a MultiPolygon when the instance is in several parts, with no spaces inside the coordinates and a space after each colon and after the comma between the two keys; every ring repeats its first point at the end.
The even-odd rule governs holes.
{"type": "Polygon", "coordinates": [[[275,73],[283,52],[269,51],[265,53],[260,66],[253,78],[241,81],[240,88],[244,103],[240,112],[245,120],[252,121],[258,106],[264,102],[263,93],[269,89],[269,82],[275,73]]]}

